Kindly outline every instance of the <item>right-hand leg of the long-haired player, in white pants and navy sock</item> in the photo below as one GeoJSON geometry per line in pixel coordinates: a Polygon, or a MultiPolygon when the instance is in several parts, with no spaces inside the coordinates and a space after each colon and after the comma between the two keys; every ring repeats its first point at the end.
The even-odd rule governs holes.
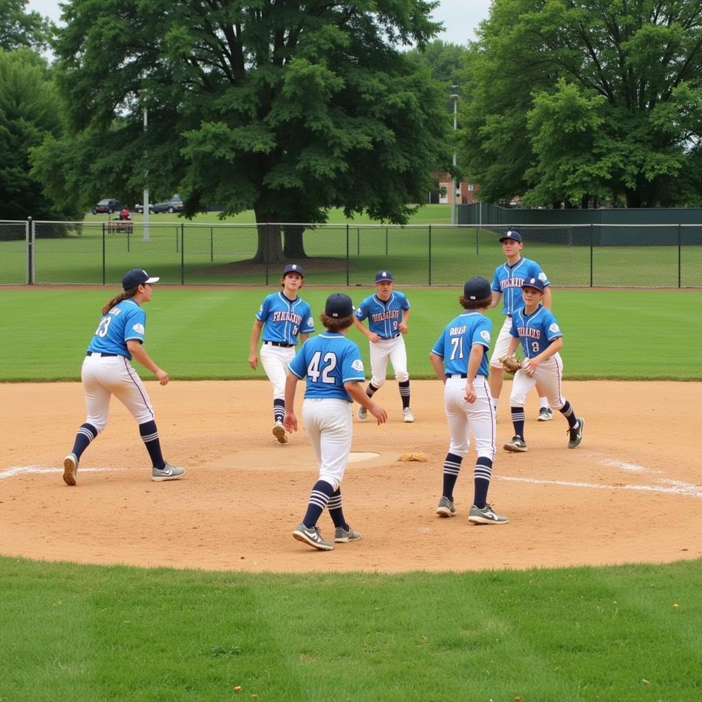
{"type": "Polygon", "coordinates": [[[171,465],[164,458],[154,408],[144,383],[131,363],[118,356],[114,364],[103,364],[101,371],[103,385],[124,404],[139,425],[139,435],[151,459],[152,480],[176,480],[185,475],[185,468],[171,465]]]}

